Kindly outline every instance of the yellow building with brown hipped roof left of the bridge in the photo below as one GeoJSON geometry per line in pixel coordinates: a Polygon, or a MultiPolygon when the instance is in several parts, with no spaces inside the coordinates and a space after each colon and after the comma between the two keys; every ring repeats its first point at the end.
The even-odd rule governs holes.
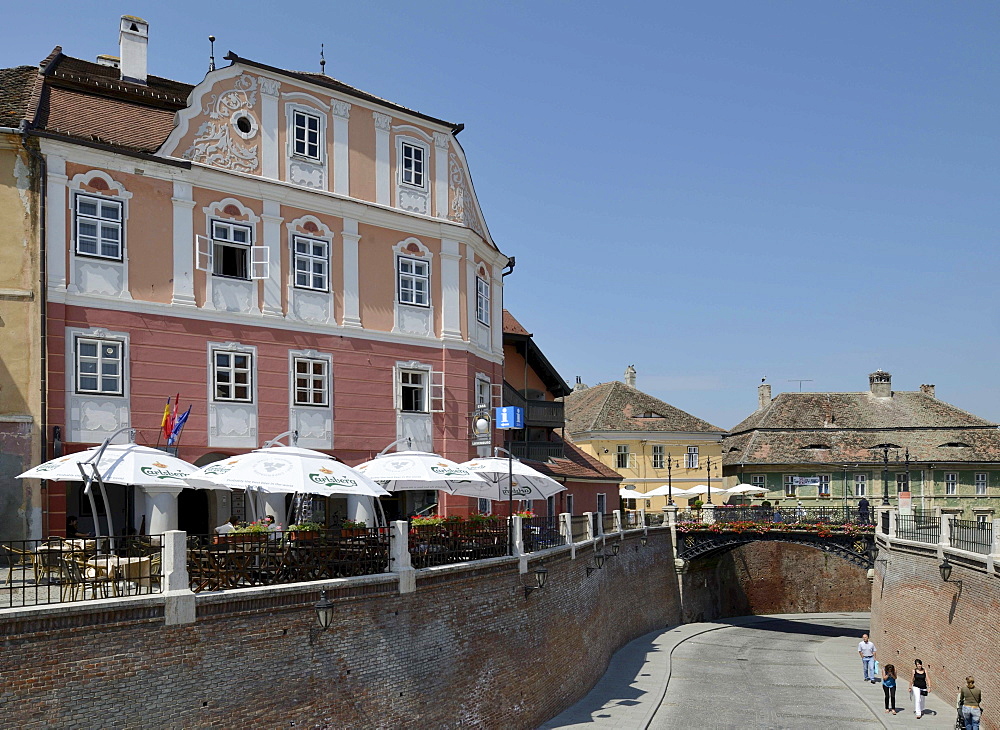
{"type": "MultiPolygon", "coordinates": [[[[722,487],[725,431],[638,390],[632,366],[625,371],[624,383],[578,383],[564,400],[567,437],[621,474],[622,487],[642,493],[668,482],[675,489],[722,487]]],[[[720,496],[725,497],[716,495],[712,501],[723,501],[720,496]]],[[[688,501],[674,499],[679,507],[688,501]]],[[[657,511],[667,498],[638,502],[637,507],[657,511]]]]}

